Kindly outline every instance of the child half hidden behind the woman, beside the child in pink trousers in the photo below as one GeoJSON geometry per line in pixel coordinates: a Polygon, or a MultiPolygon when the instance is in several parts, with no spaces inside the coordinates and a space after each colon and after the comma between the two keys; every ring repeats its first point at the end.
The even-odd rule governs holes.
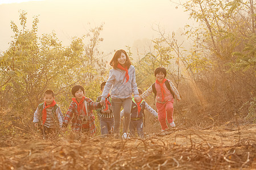
{"type": "MultiPolygon", "coordinates": [[[[142,90],[138,88],[139,95],[142,95],[142,90]]],[[[134,98],[132,98],[133,103],[131,104],[131,121],[130,121],[130,134],[134,137],[135,136],[135,129],[137,129],[138,136],[140,138],[144,138],[143,133],[143,118],[144,116],[144,109],[146,109],[148,112],[153,114],[155,117],[158,117],[158,113],[154,109],[150,107],[146,103],[146,101],[141,100],[139,103],[134,101],[134,98]]],[[[121,117],[123,116],[123,110],[121,111],[121,117]]]]}

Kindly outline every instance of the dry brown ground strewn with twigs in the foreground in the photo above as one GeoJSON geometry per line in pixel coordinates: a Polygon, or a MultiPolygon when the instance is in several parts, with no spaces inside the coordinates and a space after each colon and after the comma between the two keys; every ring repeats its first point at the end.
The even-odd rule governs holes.
{"type": "Polygon", "coordinates": [[[256,126],[142,139],[1,137],[0,169],[256,169],[256,126]]]}

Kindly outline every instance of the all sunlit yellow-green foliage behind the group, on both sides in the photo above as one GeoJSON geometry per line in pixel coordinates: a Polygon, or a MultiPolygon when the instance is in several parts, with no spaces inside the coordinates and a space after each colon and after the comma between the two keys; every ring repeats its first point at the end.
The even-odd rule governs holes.
{"type": "MultiPolygon", "coordinates": [[[[155,81],[154,70],[162,66],[181,95],[181,104],[175,109],[180,121],[201,125],[198,117],[202,117],[205,122],[221,124],[241,112],[250,122],[255,110],[255,3],[189,0],[179,5],[198,23],[184,28],[191,49],[178,41],[175,32],[167,34],[159,27],[160,36],[138,60],[126,46],[136,67],[138,87],[146,90],[155,81]],[[243,105],[250,106],[240,109],[243,105]]],[[[63,46],[55,32],[38,35],[38,16],[27,29],[26,15],[20,11],[20,27],[11,21],[13,41],[0,54],[0,121],[1,116],[15,115],[23,118],[22,124],[29,124],[48,88],[55,91],[63,113],[75,84],[84,86],[85,95],[96,100],[110,69],[98,48],[104,41],[100,36],[103,24],[63,46]]],[[[3,133],[13,133],[13,129],[3,133]]]]}

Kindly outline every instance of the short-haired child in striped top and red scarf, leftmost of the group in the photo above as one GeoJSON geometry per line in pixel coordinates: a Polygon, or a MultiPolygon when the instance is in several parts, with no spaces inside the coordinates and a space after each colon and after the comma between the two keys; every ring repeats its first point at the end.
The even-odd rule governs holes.
{"type": "Polygon", "coordinates": [[[42,133],[47,134],[53,132],[59,126],[61,128],[63,124],[63,114],[60,107],[54,101],[54,93],[52,90],[46,90],[44,92],[44,103],[38,105],[34,113],[34,126],[35,128],[42,127],[42,133]],[[57,125],[56,120],[59,120],[57,125]]]}

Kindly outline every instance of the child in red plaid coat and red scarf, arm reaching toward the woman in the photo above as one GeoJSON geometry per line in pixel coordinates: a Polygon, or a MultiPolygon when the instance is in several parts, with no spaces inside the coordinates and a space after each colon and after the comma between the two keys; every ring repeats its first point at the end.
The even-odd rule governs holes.
{"type": "Polygon", "coordinates": [[[84,96],[84,87],[76,85],[72,88],[72,102],[69,105],[68,111],[65,114],[63,126],[66,128],[69,121],[72,120],[71,128],[73,131],[82,131],[96,133],[96,126],[94,123],[93,109],[101,108],[101,104],[93,102],[91,99],[84,96]]]}

